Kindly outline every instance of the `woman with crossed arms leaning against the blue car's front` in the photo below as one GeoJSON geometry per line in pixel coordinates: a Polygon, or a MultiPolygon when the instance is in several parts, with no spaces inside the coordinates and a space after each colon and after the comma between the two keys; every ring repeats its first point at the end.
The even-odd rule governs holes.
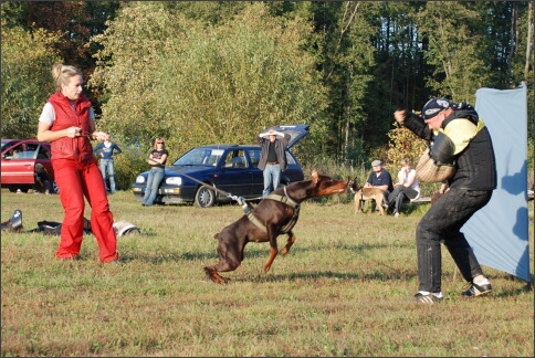
{"type": "Polygon", "coordinates": [[[150,165],[150,170],[148,172],[145,196],[143,197],[143,207],[151,207],[158,196],[158,188],[161,180],[164,180],[166,161],[169,156],[165,146],[164,138],[157,137],[154,141],[153,151],[148,156],[147,162],[150,165]]]}

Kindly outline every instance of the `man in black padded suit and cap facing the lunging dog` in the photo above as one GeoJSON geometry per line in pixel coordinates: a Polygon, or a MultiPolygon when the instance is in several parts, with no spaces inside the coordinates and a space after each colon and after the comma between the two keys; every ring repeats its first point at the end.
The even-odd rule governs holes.
{"type": "Polygon", "coordinates": [[[431,157],[436,162],[457,168],[448,179],[449,190],[431,206],[417,228],[419,292],[413,299],[433,304],[443,297],[441,242],[470,285],[462,296],[489,294],[491,283],[461,232],[464,223],[486,206],[496,189],[494,149],[484,122],[470,104],[457,104],[447,98],[430,99],[423,106],[422,117],[409,110],[396,110],[394,117],[431,144],[431,157]]]}

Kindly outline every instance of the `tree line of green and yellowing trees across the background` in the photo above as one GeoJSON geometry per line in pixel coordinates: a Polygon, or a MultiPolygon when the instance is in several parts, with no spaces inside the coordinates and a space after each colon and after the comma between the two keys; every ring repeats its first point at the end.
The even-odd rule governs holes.
{"type": "Polygon", "coordinates": [[[57,62],[84,71],[98,129],[141,152],[162,136],[174,157],[310,124],[294,149],[304,164],[389,160],[410,141],[392,135],[396,108],[420,110],[431,96],[474,104],[480,87],[521,82],[534,115],[529,1],[0,6],[4,138],[35,137],[57,62]]]}

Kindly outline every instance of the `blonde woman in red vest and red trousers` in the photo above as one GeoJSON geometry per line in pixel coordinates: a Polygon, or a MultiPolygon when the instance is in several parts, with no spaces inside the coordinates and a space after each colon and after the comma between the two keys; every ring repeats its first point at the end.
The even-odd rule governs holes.
{"type": "Polygon", "coordinates": [[[118,263],[113,214],[90,141],[103,141],[107,134],[95,130],[91,102],[82,94],[82,72],[56,64],[52,77],[57,91],[43,107],[38,139],[51,143],[52,167],[65,212],[55,255],[61,260],[78,256],[84,235],[85,197],[92,208],[91,227],[98,243],[99,261],[118,263]]]}

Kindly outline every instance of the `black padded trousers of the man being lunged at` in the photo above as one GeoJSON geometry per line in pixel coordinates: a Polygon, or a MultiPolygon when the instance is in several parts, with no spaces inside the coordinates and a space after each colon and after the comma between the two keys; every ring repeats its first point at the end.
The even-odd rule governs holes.
{"type": "Polygon", "coordinates": [[[440,243],[450,252],[464,280],[483,274],[472,248],[460,231],[491,200],[492,190],[448,190],[418,223],[416,232],[419,291],[441,292],[440,243]]]}

